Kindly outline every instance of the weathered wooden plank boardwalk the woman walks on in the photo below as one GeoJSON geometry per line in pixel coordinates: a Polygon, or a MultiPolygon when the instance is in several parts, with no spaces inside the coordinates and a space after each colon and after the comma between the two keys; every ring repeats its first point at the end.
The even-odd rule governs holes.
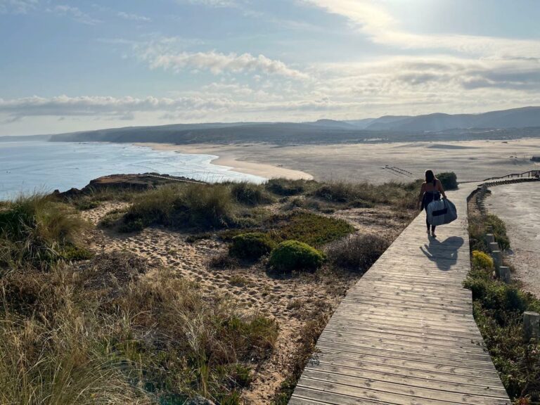
{"type": "Polygon", "coordinates": [[[473,319],[466,197],[428,238],[420,214],[349,290],[290,405],[510,404],[473,319]]]}

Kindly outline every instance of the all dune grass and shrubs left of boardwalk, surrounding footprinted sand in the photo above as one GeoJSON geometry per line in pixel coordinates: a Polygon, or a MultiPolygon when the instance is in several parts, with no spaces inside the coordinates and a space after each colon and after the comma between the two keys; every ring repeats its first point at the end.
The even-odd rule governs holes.
{"type": "MultiPolygon", "coordinates": [[[[79,215],[95,212],[77,210],[99,212],[105,201],[121,202],[100,226],[122,232],[164,226],[187,234],[189,249],[204,239],[221,247],[226,241],[229,252],[217,250],[211,271],[226,269],[226,285],[242,290],[256,282],[248,269],[262,269],[255,273],[262,275],[267,269],[316,271],[300,280],[365,271],[388,241],[351,236],[354,227],[328,213],[376,205],[402,210],[416,193],[416,183],[277,179],[263,185],[163,184],[119,191],[117,200],[107,189],[61,202],[58,195],[34,195],[1,203],[0,403],[172,405],[205,397],[218,405],[241,404],[254,369],[276,345],[278,323],[237,307],[231,297],[208,293],[142,255],[91,255],[83,248],[87,224],[79,215]]],[[[302,318],[298,350],[290,355],[275,404],[288,401],[332,305],[325,300],[303,309],[309,321],[302,318]]]]}

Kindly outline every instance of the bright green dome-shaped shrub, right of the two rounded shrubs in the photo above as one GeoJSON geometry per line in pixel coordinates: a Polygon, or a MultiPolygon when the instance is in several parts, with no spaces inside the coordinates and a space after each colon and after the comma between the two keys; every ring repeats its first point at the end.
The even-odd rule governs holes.
{"type": "Polygon", "coordinates": [[[285,240],[271,252],[269,265],[278,271],[318,269],[324,261],[319,250],[297,240],[285,240]]]}

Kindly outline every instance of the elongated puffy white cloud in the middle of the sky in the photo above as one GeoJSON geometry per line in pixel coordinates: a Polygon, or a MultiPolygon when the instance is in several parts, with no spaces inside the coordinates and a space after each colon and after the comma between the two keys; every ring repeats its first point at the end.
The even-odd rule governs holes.
{"type": "Polygon", "coordinates": [[[281,60],[266,58],[264,55],[253,56],[250,53],[181,52],[157,53],[147,50],[143,58],[148,60],[150,68],[162,68],[179,72],[184,69],[210,70],[214,75],[224,72],[262,72],[266,75],[280,75],[290,79],[308,79],[300,70],[289,68],[281,60]]]}

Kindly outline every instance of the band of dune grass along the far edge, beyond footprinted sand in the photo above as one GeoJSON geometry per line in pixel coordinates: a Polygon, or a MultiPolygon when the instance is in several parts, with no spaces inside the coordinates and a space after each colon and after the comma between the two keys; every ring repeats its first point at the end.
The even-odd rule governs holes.
{"type": "MultiPolygon", "coordinates": [[[[285,205],[288,210],[304,207],[330,213],[336,209],[375,205],[413,209],[419,187],[418,181],[374,186],[286,179],[271,179],[264,185],[248,182],[166,185],[136,195],[122,217],[119,230],[140,231],[152,225],[199,231],[256,227],[268,215],[264,205],[278,198],[286,200],[291,195],[297,196],[297,203],[291,200],[285,205]]],[[[116,222],[110,219],[108,225],[116,222]]]]}

